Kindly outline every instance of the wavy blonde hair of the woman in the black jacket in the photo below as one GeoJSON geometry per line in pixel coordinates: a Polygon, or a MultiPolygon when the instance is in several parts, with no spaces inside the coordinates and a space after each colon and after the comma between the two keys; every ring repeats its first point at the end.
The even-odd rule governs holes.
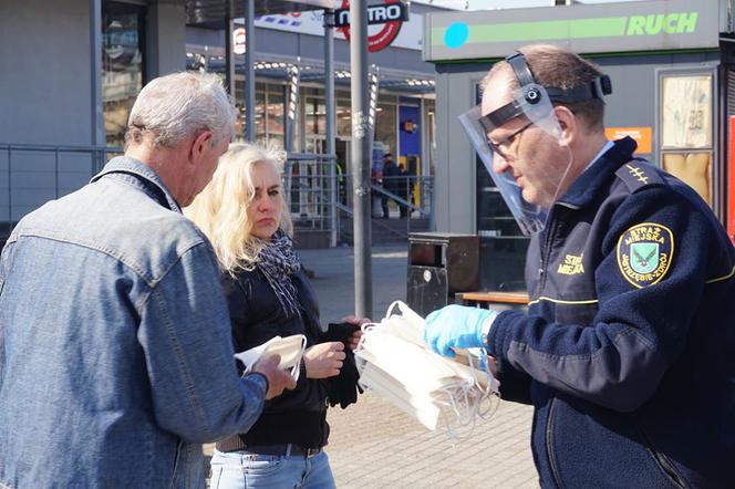
{"type": "MultiPolygon", "coordinates": [[[[219,266],[234,273],[237,269],[252,270],[266,242],[251,235],[247,207],[255,197],[252,169],[270,165],[278,176],[283,174],[286,154],[257,144],[231,144],[219,158],[219,166],[209,185],[184,209],[209,238],[219,266]]],[[[292,225],[281,189],[279,228],[291,236],[292,225]]]]}

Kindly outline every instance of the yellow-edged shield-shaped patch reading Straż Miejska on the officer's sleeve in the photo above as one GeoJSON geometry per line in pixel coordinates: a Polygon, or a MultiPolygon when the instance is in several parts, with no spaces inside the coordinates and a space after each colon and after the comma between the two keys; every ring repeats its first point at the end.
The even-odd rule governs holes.
{"type": "Polygon", "coordinates": [[[674,235],[656,222],[635,225],[618,240],[618,267],[625,280],[639,289],[660,282],[673,254],[674,235]]]}

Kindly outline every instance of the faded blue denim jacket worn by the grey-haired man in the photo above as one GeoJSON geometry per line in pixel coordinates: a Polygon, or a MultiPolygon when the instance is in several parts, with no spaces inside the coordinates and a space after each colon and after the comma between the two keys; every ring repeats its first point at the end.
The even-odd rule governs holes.
{"type": "Polygon", "coordinates": [[[19,222],[0,258],[0,488],[204,487],[247,431],[217,262],[161,178],[118,157],[19,222]]]}

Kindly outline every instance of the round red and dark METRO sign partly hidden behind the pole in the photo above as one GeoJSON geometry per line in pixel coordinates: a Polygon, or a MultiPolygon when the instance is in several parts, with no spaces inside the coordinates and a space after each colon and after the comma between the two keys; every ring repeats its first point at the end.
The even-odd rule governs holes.
{"type": "MultiPolygon", "coordinates": [[[[361,1],[361,0],[358,0],[361,1]]],[[[382,24],[374,35],[368,35],[368,51],[374,53],[387,48],[408,20],[408,9],[401,0],[384,0],[385,4],[368,7],[368,24],[382,24]]],[[[342,0],[342,8],[334,11],[334,27],[350,42],[350,0],[342,0]]]]}

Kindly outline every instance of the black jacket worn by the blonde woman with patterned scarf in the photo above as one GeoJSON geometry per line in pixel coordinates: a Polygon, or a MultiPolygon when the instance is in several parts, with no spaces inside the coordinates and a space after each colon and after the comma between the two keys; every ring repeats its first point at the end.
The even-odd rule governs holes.
{"type": "MultiPolygon", "coordinates": [[[[293,284],[300,314],[288,315],[260,270],[241,270],[235,278],[222,275],[236,352],[258,346],[277,335],[304,334],[307,347],[320,342],[319,304],[303,269],[293,275],[293,284]]],[[[284,391],[266,402],[260,418],[240,437],[247,445],[292,443],[308,448],[321,447],[329,436],[325,399],[325,381],[307,378],[302,363],[296,389],[284,391]]]]}

